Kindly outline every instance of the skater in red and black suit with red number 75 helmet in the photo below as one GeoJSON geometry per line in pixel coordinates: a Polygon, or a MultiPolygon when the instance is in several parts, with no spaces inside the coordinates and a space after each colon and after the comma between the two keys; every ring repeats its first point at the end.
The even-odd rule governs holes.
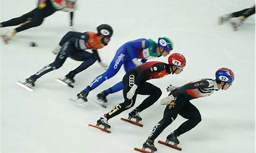
{"type": "Polygon", "coordinates": [[[109,129],[110,125],[107,120],[132,108],[135,105],[137,94],[149,96],[129,113],[129,118],[135,118],[137,121],[142,120],[139,116],[139,112],[153,105],[162,94],[158,87],[146,81],[159,79],[170,73],[179,74],[186,65],[186,60],[183,55],[174,53],[169,56],[168,63],[169,64],[163,62],[147,62],[127,72],[122,80],[124,102],[117,104],[108,113],[104,114],[103,117],[97,120],[97,125],[103,125],[105,128],[109,129]]]}

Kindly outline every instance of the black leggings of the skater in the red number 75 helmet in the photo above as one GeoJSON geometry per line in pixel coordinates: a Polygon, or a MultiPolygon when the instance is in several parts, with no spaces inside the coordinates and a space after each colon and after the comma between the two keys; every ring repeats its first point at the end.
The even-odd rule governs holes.
{"type": "Polygon", "coordinates": [[[126,73],[123,77],[123,97],[124,97],[124,102],[117,104],[112,110],[110,110],[109,113],[106,113],[104,116],[107,119],[110,119],[118,114],[120,114],[121,112],[130,109],[131,107],[134,106],[135,104],[135,100],[137,97],[137,94],[141,94],[141,95],[149,95],[148,97],[146,97],[142,103],[136,107],[136,109],[138,109],[139,112],[143,111],[144,109],[150,107],[151,105],[153,105],[161,96],[162,91],[160,90],[160,88],[154,86],[151,83],[148,82],[141,82],[138,85],[137,90],[135,91],[134,96],[132,97],[132,99],[128,99],[126,97],[127,92],[130,91],[131,87],[133,86],[134,83],[134,79],[136,78],[136,74],[133,73],[126,73]]]}

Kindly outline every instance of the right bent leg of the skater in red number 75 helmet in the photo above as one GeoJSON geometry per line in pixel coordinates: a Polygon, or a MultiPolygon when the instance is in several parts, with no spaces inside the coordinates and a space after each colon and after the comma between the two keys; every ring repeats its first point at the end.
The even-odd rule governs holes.
{"type": "Polygon", "coordinates": [[[138,88],[138,94],[150,95],[145,98],[138,107],[136,107],[136,109],[141,112],[144,109],[152,106],[160,98],[162,91],[160,88],[154,86],[153,84],[145,82],[140,84],[138,88]]]}

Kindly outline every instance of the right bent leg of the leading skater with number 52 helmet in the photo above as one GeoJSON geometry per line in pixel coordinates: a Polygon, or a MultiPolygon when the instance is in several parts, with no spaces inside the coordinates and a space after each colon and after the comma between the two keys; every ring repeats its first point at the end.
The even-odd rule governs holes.
{"type": "Polygon", "coordinates": [[[182,123],[178,129],[175,130],[177,136],[193,129],[202,120],[199,110],[190,102],[187,106],[181,108],[179,115],[188,120],[182,123]]]}

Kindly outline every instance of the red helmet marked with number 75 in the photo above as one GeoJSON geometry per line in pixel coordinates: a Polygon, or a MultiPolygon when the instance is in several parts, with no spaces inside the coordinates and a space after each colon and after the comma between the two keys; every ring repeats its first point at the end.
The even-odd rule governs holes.
{"type": "Polygon", "coordinates": [[[170,65],[176,65],[178,67],[185,67],[186,59],[183,55],[179,53],[173,53],[168,57],[168,63],[170,65]]]}

